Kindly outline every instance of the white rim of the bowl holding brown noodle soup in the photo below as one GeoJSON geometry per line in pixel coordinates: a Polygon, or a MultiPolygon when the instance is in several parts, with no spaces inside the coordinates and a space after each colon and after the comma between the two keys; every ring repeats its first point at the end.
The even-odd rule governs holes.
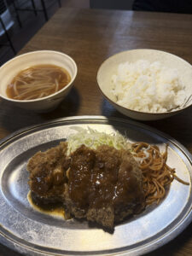
{"type": "Polygon", "coordinates": [[[50,94],[49,96],[45,96],[45,97],[38,98],[38,99],[32,99],[32,100],[15,100],[15,99],[12,99],[12,98],[9,98],[9,97],[0,95],[3,99],[9,100],[10,102],[20,102],[20,103],[26,103],[26,102],[41,102],[42,100],[47,100],[47,99],[49,99],[49,98],[52,98],[53,96],[56,96],[57,94],[60,94],[61,91],[66,90],[66,89],[73,83],[73,81],[75,80],[75,78],[76,78],[76,76],[77,76],[77,73],[78,73],[78,67],[77,67],[76,62],[75,62],[75,61],[73,60],[73,58],[70,57],[69,55],[64,54],[64,53],[62,53],[62,52],[60,52],[60,51],[56,51],[56,50],[49,50],[49,49],[34,50],[34,51],[27,52],[27,53],[25,53],[25,54],[21,54],[21,55],[15,56],[15,57],[12,58],[11,60],[5,62],[5,63],[3,64],[3,66],[0,67],[0,69],[3,68],[3,67],[6,67],[7,65],[9,65],[10,62],[19,59],[21,56],[24,56],[24,55],[33,55],[33,54],[45,53],[45,52],[50,53],[50,54],[63,55],[63,56],[65,56],[65,57],[67,57],[70,61],[72,61],[72,62],[73,62],[73,65],[74,65],[74,67],[75,67],[73,79],[71,79],[71,81],[70,81],[65,87],[63,87],[61,90],[58,90],[58,91],[56,91],[55,93],[50,94]]]}

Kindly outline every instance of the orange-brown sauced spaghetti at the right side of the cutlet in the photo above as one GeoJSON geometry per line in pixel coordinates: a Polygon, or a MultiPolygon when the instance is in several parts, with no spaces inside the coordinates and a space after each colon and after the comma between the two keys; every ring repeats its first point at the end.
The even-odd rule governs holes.
{"type": "Polygon", "coordinates": [[[139,160],[143,172],[143,189],[147,205],[157,204],[166,195],[166,186],[176,178],[178,182],[189,185],[177,177],[175,169],[166,165],[166,151],[161,154],[160,148],[148,143],[133,143],[132,150],[136,160],[139,160]]]}

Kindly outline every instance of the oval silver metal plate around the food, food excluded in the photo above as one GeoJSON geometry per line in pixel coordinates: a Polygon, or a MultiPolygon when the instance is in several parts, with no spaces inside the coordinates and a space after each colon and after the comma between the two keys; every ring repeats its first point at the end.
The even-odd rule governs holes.
{"type": "Polygon", "coordinates": [[[79,116],[55,119],[17,131],[1,141],[0,154],[0,242],[27,255],[138,255],[148,253],[171,241],[192,220],[192,157],[172,137],[131,120],[102,116],[79,116]],[[130,143],[154,144],[164,151],[168,143],[167,165],[176,169],[176,179],[158,205],[120,224],[113,232],[87,221],[65,220],[39,212],[27,200],[29,192],[26,170],[28,160],[66,141],[74,127],[106,132],[119,132],[130,143]]]}

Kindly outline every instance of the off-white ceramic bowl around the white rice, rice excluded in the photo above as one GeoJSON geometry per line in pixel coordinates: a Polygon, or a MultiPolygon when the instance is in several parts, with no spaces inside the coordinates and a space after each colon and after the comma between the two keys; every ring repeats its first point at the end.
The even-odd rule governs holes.
{"type": "Polygon", "coordinates": [[[141,59],[148,60],[150,62],[160,61],[160,63],[164,64],[165,67],[177,68],[179,76],[182,77],[183,84],[185,85],[186,95],[189,96],[192,94],[192,66],[189,64],[189,62],[184,61],[176,55],[172,55],[160,50],[131,49],[109,57],[102,63],[102,66],[99,68],[97,73],[96,79],[99,88],[102,90],[103,96],[105,96],[107,100],[111,102],[113,107],[119,110],[120,113],[123,113],[132,119],[138,120],[164,119],[176,113],[180,113],[185,108],[189,108],[192,101],[189,101],[185,108],[173,110],[172,112],[146,113],[124,108],[115,102],[115,97],[111,92],[112,75],[117,73],[117,68],[120,63],[124,63],[126,61],[136,62],[141,59]]]}

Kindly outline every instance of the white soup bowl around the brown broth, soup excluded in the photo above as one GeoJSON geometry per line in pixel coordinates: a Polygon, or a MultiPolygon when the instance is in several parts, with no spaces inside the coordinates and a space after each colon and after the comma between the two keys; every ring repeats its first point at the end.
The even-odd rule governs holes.
{"type": "Polygon", "coordinates": [[[58,106],[58,104],[67,96],[69,90],[73,86],[74,79],[77,75],[77,65],[73,59],[61,52],[53,50],[39,50],[19,55],[0,67],[0,96],[6,101],[14,102],[15,106],[26,108],[35,112],[48,112],[58,106]],[[14,100],[7,96],[6,89],[9,82],[17,73],[27,67],[32,67],[42,64],[52,64],[59,67],[64,67],[71,76],[71,81],[63,89],[45,96],[43,98],[20,101],[14,100]]]}

